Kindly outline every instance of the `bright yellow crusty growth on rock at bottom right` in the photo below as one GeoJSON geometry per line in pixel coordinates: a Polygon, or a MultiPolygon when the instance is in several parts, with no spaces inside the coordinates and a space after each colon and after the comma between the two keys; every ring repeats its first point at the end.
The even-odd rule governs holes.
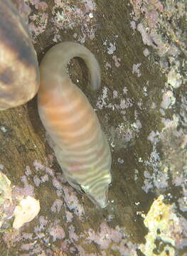
{"type": "MultiPolygon", "coordinates": [[[[149,229],[149,233],[145,236],[145,245],[139,245],[139,249],[146,256],[158,256],[153,251],[156,248],[154,243],[156,238],[159,238],[163,242],[171,243],[174,246],[177,235],[180,233],[179,219],[174,213],[173,205],[165,204],[163,199],[164,196],[161,195],[154,201],[144,219],[144,224],[149,229]]],[[[166,255],[175,255],[173,247],[167,245],[159,254],[159,256],[166,255]]]]}

